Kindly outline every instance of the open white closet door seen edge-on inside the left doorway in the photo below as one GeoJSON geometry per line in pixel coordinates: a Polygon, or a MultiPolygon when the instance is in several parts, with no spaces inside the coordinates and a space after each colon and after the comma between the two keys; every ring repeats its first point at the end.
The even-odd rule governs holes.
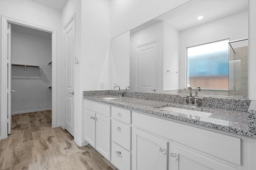
{"type": "Polygon", "coordinates": [[[8,124],[8,134],[11,134],[12,129],[12,114],[11,114],[11,101],[12,101],[12,86],[11,86],[11,80],[12,80],[12,63],[11,63],[11,24],[8,23],[8,55],[7,55],[7,70],[8,70],[8,76],[7,76],[7,103],[8,103],[8,111],[7,111],[7,124],[8,124]]]}

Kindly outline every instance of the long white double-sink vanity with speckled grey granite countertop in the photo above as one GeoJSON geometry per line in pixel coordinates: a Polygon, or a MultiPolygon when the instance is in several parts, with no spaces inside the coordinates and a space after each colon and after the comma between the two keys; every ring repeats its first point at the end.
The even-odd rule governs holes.
{"type": "Polygon", "coordinates": [[[105,90],[85,91],[84,98],[85,140],[120,170],[256,169],[250,100],[204,99],[221,100],[216,108],[204,100],[200,107],[184,106],[182,98],[170,94],[120,97],[105,90]],[[166,106],[212,114],[163,110],[166,106]]]}

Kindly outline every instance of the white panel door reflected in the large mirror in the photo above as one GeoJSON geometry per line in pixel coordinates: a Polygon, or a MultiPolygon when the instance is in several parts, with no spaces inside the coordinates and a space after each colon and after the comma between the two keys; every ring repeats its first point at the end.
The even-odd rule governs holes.
{"type": "Polygon", "coordinates": [[[137,90],[156,92],[157,82],[157,41],[137,47],[137,90]]]}

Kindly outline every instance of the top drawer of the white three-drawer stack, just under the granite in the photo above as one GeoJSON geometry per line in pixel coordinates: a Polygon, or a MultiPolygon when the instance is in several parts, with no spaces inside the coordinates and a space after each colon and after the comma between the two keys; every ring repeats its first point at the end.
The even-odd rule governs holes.
{"type": "Polygon", "coordinates": [[[118,107],[111,107],[111,116],[115,119],[131,124],[131,111],[118,107]]]}

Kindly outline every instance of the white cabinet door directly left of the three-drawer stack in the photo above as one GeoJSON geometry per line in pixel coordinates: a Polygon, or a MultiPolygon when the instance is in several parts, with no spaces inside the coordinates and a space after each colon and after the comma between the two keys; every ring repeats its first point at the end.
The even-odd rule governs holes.
{"type": "Polygon", "coordinates": [[[96,149],[110,160],[110,118],[96,114],[96,149]]]}

